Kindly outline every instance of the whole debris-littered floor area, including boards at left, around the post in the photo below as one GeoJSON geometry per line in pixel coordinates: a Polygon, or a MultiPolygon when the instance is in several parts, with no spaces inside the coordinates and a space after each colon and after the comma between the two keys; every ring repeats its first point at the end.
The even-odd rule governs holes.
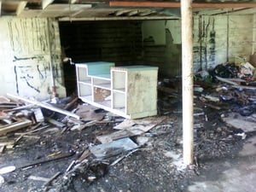
{"type": "Polygon", "coordinates": [[[172,80],[159,84],[159,114],[143,119],[124,119],[76,96],[56,103],[2,96],[0,189],[183,191],[185,177],[201,174],[206,160],[235,155],[254,131],[256,89],[228,77],[195,81],[195,165],[187,172],[178,169],[182,97],[172,80]]]}

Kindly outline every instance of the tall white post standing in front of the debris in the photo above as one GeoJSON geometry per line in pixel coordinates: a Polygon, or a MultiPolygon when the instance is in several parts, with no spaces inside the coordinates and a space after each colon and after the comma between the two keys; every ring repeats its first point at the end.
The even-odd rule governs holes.
{"type": "Polygon", "coordinates": [[[193,163],[193,36],[192,0],[181,0],[183,76],[183,163],[193,163]]]}

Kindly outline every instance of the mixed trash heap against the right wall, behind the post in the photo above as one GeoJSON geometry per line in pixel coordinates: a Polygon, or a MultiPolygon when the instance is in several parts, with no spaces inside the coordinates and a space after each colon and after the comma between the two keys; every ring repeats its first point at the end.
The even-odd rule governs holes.
{"type": "Polygon", "coordinates": [[[213,89],[202,94],[202,102],[214,102],[213,106],[219,109],[226,103],[233,111],[248,116],[256,110],[255,72],[255,67],[249,62],[219,64],[204,76],[201,73],[195,75],[195,90],[201,87],[200,81],[211,79],[213,89]]]}

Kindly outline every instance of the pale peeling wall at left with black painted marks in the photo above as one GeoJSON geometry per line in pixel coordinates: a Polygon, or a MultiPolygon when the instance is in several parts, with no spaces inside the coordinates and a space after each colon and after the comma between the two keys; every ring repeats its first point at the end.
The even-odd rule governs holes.
{"type": "Polygon", "coordinates": [[[0,18],[0,95],[48,99],[55,85],[66,96],[58,23],[49,19],[0,18]]]}

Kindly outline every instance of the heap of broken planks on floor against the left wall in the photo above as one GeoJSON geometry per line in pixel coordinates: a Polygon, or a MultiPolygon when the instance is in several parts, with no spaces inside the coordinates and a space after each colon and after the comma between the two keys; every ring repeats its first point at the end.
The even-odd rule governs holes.
{"type": "MultiPolygon", "coordinates": [[[[75,98],[71,103],[77,101],[75,98]]],[[[67,106],[70,106],[67,103],[67,106]]],[[[0,97],[0,136],[9,132],[18,131],[30,125],[42,124],[49,122],[54,125],[64,127],[64,124],[54,119],[45,117],[42,109],[49,109],[53,113],[61,113],[68,117],[79,119],[79,115],[65,110],[65,108],[55,107],[47,102],[38,102],[22,98],[20,96],[1,96],[0,97]]]]}

